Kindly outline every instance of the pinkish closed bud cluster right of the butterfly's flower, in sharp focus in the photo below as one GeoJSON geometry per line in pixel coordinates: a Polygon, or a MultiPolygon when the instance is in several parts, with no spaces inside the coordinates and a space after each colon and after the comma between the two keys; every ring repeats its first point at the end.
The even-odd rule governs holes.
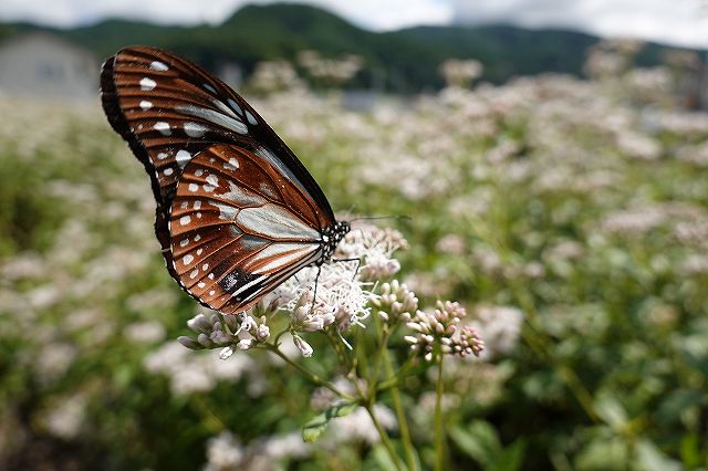
{"type": "Polygon", "coordinates": [[[479,338],[477,329],[469,325],[458,328],[465,316],[467,312],[458,303],[438,301],[433,313],[416,313],[413,321],[406,324],[416,334],[406,335],[404,338],[410,344],[410,348],[421,353],[427,362],[433,360],[436,346],[439,346],[442,354],[479,356],[485,343],[479,338]]]}

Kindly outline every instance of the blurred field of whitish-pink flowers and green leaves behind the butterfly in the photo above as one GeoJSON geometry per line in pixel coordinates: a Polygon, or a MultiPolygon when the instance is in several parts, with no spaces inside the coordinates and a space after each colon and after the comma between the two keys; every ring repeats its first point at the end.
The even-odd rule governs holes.
{"type": "MultiPolygon", "coordinates": [[[[157,45],[170,34],[150,31],[157,45]]],[[[300,428],[331,398],[282,359],[221,360],[176,342],[210,313],[163,266],[148,179],[103,117],[95,77],[28,93],[2,62],[22,41],[20,56],[41,55],[60,33],[0,24],[0,469],[389,467],[363,409],[304,443],[300,428]]],[[[50,49],[43,80],[60,83],[52,61],[66,57],[97,74],[95,55],[76,53],[81,38],[50,49]]],[[[382,286],[379,305],[402,303],[425,329],[429,318],[405,313],[406,290],[430,306],[457,300],[440,315],[466,311],[466,332],[485,342],[479,358],[456,356],[444,371],[454,469],[708,468],[704,52],[595,39],[561,57],[577,73],[537,62],[539,73],[498,80],[493,50],[420,55],[418,67],[433,61],[425,73],[402,59],[384,73],[365,53],[304,40],[281,56],[244,49],[240,67],[170,38],[240,86],[340,218],[408,217],[385,221],[407,240],[407,287],[382,286]]],[[[425,349],[410,335],[399,346],[425,349]]],[[[316,345],[310,358],[290,348],[315,371],[331,364],[316,345]]],[[[420,375],[400,387],[425,457],[435,398],[420,375]]],[[[385,397],[375,410],[395,438],[385,397]]]]}

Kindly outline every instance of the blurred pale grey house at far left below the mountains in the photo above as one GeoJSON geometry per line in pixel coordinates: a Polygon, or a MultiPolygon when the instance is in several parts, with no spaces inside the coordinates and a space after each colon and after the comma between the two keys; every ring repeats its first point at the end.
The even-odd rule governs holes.
{"type": "Polygon", "coordinates": [[[32,32],[0,43],[0,94],[96,97],[101,61],[55,35],[32,32]]]}

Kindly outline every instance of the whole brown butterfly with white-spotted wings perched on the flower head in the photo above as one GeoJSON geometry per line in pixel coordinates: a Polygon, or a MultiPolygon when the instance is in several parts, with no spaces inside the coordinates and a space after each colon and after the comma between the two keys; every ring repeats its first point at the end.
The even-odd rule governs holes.
{"type": "Polygon", "coordinates": [[[101,100],[149,175],[167,270],[202,305],[248,310],[350,231],[275,132],[198,65],[123,49],[103,64],[101,100]]]}

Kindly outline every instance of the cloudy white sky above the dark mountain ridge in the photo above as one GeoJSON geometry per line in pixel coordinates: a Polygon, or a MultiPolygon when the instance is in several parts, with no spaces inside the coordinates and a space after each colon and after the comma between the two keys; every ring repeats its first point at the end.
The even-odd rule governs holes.
{"type": "MultiPolygon", "coordinates": [[[[164,24],[218,24],[246,3],[269,0],[2,0],[0,21],[54,27],[121,17],[164,24]]],[[[418,24],[512,23],[633,36],[708,49],[708,0],[299,0],[369,30],[418,24]]]]}

